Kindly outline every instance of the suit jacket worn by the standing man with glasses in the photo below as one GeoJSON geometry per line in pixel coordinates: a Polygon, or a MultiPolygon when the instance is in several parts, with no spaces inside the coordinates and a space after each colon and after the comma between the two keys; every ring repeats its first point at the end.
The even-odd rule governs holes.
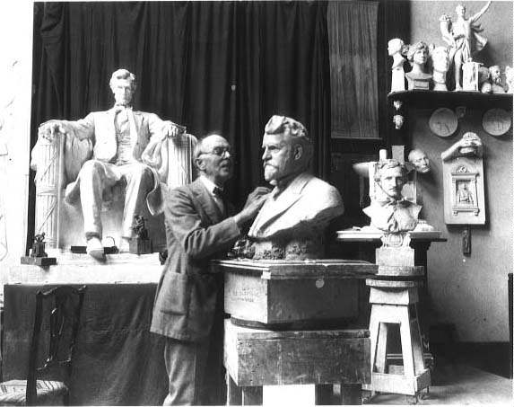
{"type": "MultiPolygon", "coordinates": [[[[233,208],[225,203],[228,212],[233,208]]],[[[222,258],[240,237],[199,179],[171,190],[164,206],[168,258],[153,305],[151,332],[181,341],[203,341],[211,332],[222,275],[209,261],[222,258]]]]}

